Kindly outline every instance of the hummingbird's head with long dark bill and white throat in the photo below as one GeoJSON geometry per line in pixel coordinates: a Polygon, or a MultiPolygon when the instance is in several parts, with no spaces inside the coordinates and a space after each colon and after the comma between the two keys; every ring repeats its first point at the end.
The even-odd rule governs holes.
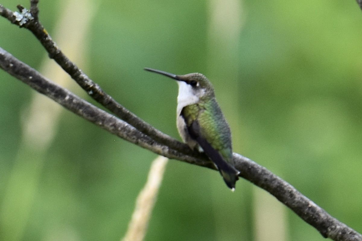
{"type": "MultiPolygon", "coordinates": [[[[147,71],[163,74],[164,76],[173,78],[177,80],[179,91],[179,98],[182,96],[183,98],[191,98],[191,99],[199,99],[202,98],[212,98],[215,96],[214,88],[211,85],[209,79],[207,79],[203,74],[200,73],[191,73],[184,75],[176,75],[164,72],[162,70],[145,68],[147,71]]],[[[197,102],[195,101],[195,102],[197,102]]]]}

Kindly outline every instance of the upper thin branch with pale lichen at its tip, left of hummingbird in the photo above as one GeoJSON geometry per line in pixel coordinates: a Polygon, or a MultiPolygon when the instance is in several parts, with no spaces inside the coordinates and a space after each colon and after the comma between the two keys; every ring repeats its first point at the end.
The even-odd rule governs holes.
{"type": "MultiPolygon", "coordinates": [[[[36,13],[38,13],[36,7],[37,2],[38,1],[31,0],[31,8],[36,13]]],[[[26,13],[26,9],[24,7],[18,6],[18,9],[20,10],[22,15],[26,13]]],[[[102,104],[102,106],[109,109],[122,120],[134,126],[140,132],[150,136],[155,141],[167,144],[172,149],[178,150],[184,154],[191,154],[190,148],[187,145],[176,141],[174,138],[170,137],[167,134],[164,134],[160,130],[157,130],[152,125],[140,119],[134,113],[116,102],[110,95],[102,90],[97,83],[93,82],[92,79],[90,79],[81,69],[79,69],[76,64],[74,64],[68,59],[67,56],[64,55],[64,53],[52,40],[51,36],[45,30],[43,25],[39,22],[37,17],[33,17],[25,22],[21,22],[14,20],[14,14],[17,15],[11,10],[4,8],[2,5],[0,5],[0,15],[7,18],[15,25],[29,29],[31,33],[33,33],[35,37],[39,40],[39,42],[41,42],[45,50],[49,53],[49,57],[54,59],[56,63],[58,63],[59,66],[61,66],[64,71],[67,72],[72,77],[72,79],[74,79],[78,83],[78,85],[82,87],[94,100],[102,104]]]]}

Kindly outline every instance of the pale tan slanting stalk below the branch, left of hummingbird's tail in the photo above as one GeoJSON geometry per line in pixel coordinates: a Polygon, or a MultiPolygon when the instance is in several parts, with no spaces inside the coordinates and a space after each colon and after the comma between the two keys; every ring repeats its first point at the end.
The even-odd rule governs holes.
{"type": "Polygon", "coordinates": [[[148,222],[153,206],[155,206],[167,161],[168,158],[159,156],[152,162],[146,185],[144,185],[137,197],[132,219],[122,241],[142,241],[146,235],[148,222]]]}

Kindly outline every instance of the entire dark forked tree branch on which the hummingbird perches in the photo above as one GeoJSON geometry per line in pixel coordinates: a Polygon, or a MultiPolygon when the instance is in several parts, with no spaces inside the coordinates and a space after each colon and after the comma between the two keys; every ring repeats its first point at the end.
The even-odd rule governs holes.
{"type": "MultiPolygon", "coordinates": [[[[357,2],[359,3],[359,0],[357,0],[357,2]]],[[[38,21],[37,14],[39,11],[37,3],[38,0],[31,0],[30,12],[24,7],[18,6],[21,13],[14,13],[0,5],[0,15],[20,27],[29,29],[42,43],[51,58],[62,66],[93,99],[115,113],[115,115],[123,121],[93,106],[63,87],[52,83],[41,76],[36,70],[17,60],[1,48],[0,68],[20,79],[41,94],[55,100],[73,113],[129,142],[171,159],[215,169],[214,165],[205,155],[191,151],[184,143],[178,142],[176,139],[169,137],[153,128],[147,122],[139,119],[125,107],[115,102],[100,86],[89,79],[82,70],[77,68],[77,66],[60,51],[51,39],[51,36],[38,21]]],[[[361,234],[333,218],[325,210],[317,206],[310,199],[299,193],[293,186],[268,169],[236,153],[233,154],[233,158],[241,177],[274,195],[274,197],[293,210],[300,218],[315,227],[323,237],[328,237],[336,241],[362,241],[361,234]]]]}

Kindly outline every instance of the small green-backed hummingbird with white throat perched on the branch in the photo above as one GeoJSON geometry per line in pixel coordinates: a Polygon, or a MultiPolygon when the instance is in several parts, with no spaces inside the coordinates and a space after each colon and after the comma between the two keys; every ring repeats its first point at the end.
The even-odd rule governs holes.
{"type": "Polygon", "coordinates": [[[234,191],[240,172],[232,159],[230,128],[216,102],[209,79],[200,73],[176,75],[157,69],[144,69],[177,81],[178,133],[191,149],[205,152],[226,185],[234,191]]]}

